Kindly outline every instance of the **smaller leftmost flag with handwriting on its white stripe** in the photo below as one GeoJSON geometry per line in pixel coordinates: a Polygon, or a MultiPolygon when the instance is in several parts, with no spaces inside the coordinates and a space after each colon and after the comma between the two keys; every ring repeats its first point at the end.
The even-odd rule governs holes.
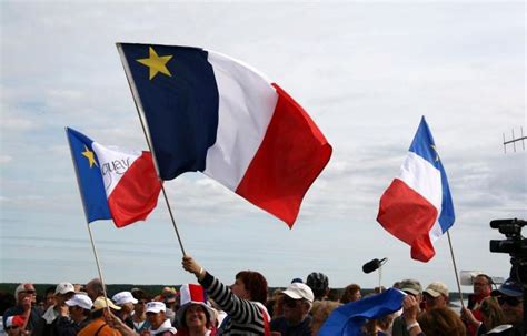
{"type": "Polygon", "coordinates": [[[151,153],[126,153],[66,132],[88,223],[113,220],[122,227],[146,220],[161,191],[151,153]]]}

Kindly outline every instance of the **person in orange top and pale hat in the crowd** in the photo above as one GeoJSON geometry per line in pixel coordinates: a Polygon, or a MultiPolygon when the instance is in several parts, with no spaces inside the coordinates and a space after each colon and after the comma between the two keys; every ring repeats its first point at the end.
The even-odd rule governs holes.
{"type": "Polygon", "coordinates": [[[93,302],[91,309],[92,320],[83,327],[78,336],[121,336],[121,333],[107,324],[106,319],[112,319],[111,310],[120,310],[108,297],[99,296],[93,302]]]}

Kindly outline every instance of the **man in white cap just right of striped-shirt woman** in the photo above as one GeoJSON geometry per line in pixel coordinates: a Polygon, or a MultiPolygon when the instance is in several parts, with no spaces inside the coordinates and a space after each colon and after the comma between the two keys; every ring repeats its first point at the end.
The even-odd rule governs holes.
{"type": "Polygon", "coordinates": [[[272,332],[282,336],[311,336],[309,315],[315,295],[308,285],[292,283],[284,294],[284,316],[271,319],[272,332]]]}

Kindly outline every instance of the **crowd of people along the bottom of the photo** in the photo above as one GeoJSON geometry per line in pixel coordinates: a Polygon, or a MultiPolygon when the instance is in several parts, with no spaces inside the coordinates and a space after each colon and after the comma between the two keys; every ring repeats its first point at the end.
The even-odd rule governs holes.
{"type": "MultiPolygon", "coordinates": [[[[84,286],[60,283],[47,291],[41,305],[37,305],[34,286],[20,284],[14,291],[14,306],[3,312],[4,333],[9,336],[315,336],[319,332],[324,334],[322,326],[335,309],[364,299],[357,284],[348,285],[340,297],[329,298],[329,279],[318,272],[305,281],[292,279],[285,289],[268,293],[267,281],[258,272],[239,272],[233,284],[227,286],[188,255],[182,258],[182,267],[196,276],[197,284],[183,284],[179,291],[166,287],[156,297],[140,288],[130,288],[110,298],[101,281],[95,278],[84,286]]],[[[480,274],[474,277],[473,284],[468,305],[458,312],[449,307],[450,295],[444,283],[422,287],[416,279],[402,279],[394,284],[405,293],[401,309],[367,320],[361,333],[526,335],[519,283],[508,279],[494,288],[493,279],[480,274]]]]}

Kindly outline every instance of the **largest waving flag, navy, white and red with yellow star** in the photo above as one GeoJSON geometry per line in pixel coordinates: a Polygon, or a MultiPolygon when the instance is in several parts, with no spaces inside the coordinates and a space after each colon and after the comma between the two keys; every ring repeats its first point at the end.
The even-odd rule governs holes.
{"type": "Polygon", "coordinates": [[[280,86],[229,57],[119,43],[162,180],[200,171],[292,226],[331,146],[280,86]]]}

